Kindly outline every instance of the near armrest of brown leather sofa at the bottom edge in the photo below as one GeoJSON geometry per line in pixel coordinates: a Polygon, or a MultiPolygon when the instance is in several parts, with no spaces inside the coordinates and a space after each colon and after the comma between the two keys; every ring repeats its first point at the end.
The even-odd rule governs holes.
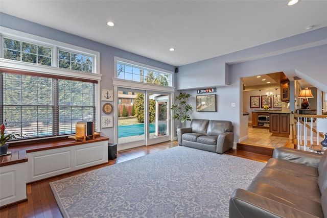
{"type": "Polygon", "coordinates": [[[229,218],[252,217],[316,217],[256,193],[236,189],[229,200],[229,218]]]}

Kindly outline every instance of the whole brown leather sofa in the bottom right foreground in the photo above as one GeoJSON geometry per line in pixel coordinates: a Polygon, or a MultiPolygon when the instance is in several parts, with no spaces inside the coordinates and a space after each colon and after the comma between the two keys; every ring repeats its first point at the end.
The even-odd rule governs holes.
{"type": "Polygon", "coordinates": [[[248,188],[236,189],[229,217],[327,217],[327,152],[275,148],[248,188]]]}

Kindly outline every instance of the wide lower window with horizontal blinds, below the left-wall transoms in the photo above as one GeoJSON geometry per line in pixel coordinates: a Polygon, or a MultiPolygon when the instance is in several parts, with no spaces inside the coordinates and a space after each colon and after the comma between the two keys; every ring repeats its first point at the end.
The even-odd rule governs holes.
{"type": "Polygon", "coordinates": [[[28,72],[1,72],[0,114],[8,133],[24,138],[75,133],[77,122],[96,120],[96,83],[28,72]]]}

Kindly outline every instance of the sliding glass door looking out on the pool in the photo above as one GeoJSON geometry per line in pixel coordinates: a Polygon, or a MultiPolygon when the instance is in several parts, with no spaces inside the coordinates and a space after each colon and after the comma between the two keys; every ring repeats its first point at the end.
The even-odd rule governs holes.
{"type": "Polygon", "coordinates": [[[119,150],[169,141],[170,93],[118,89],[119,150]]]}

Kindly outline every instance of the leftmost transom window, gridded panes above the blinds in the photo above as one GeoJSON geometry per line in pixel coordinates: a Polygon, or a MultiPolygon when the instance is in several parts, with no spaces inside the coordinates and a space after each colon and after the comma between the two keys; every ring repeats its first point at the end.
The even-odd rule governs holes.
{"type": "Polygon", "coordinates": [[[52,65],[51,47],[9,38],[4,38],[3,41],[3,57],[5,59],[41,64],[46,66],[52,65]]]}

